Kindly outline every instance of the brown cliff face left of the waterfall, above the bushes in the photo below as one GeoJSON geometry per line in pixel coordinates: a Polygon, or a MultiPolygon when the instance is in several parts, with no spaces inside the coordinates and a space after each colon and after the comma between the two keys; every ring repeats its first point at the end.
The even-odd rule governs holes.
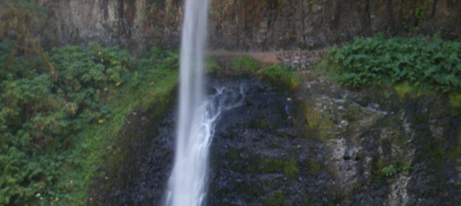
{"type": "Polygon", "coordinates": [[[96,41],[134,52],[178,45],[182,14],[175,1],[39,0],[39,4],[52,11],[43,35],[49,45],[96,41]]]}

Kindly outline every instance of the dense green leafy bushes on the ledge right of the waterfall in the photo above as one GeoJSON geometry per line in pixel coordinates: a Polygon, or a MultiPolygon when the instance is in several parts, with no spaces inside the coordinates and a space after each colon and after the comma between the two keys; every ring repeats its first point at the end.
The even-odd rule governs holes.
{"type": "Polygon", "coordinates": [[[352,87],[407,82],[443,93],[461,89],[461,43],[433,38],[355,38],[333,47],[330,58],[339,80],[352,87]]]}

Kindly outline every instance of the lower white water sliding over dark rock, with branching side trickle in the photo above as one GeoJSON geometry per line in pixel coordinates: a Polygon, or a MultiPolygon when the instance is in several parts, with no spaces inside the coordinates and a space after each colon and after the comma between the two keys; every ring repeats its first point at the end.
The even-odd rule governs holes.
{"type": "MultiPolygon", "coordinates": [[[[187,133],[178,131],[176,156],[169,180],[166,205],[204,205],[208,150],[215,123],[223,111],[241,106],[244,100],[243,85],[219,87],[195,109],[187,133]]],[[[184,132],[184,131],[182,131],[184,132]]]]}

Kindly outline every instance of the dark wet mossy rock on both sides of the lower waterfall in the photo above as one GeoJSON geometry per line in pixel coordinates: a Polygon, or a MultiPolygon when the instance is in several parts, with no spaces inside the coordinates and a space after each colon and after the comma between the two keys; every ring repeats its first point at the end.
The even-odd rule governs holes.
{"type": "MultiPolygon", "coordinates": [[[[296,95],[256,79],[212,81],[244,84],[245,100],[217,122],[208,205],[461,203],[461,117],[446,100],[307,79],[296,95]]],[[[161,205],[174,117],[127,126],[131,153],[110,183],[95,181],[99,203],[161,205]]]]}

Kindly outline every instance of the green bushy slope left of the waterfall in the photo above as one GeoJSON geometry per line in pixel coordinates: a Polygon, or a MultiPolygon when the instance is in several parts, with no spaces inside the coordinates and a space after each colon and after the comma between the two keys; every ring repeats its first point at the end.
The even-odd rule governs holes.
{"type": "Polygon", "coordinates": [[[58,184],[63,171],[85,161],[76,154],[84,150],[76,148],[87,147],[88,128],[114,119],[116,93],[140,93],[144,82],[175,76],[165,68],[178,64],[177,54],[159,49],[135,60],[116,47],[66,46],[46,54],[55,78],[41,56],[11,56],[13,44],[0,43],[0,205],[48,205],[65,198],[74,181],[58,184]]]}

